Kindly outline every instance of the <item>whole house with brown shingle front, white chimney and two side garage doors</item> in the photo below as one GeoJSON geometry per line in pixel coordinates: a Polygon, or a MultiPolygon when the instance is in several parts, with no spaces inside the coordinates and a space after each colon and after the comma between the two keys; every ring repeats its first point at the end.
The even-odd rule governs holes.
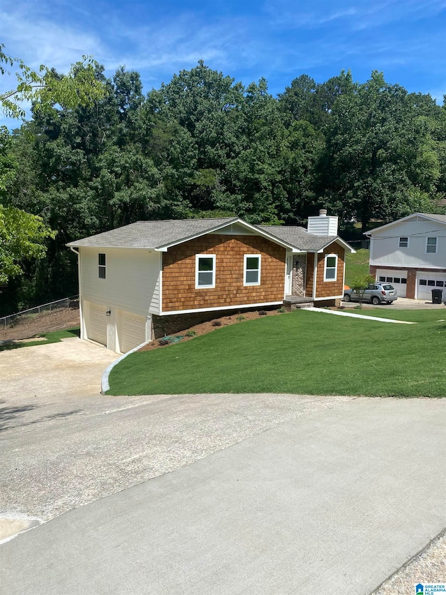
{"type": "Polygon", "coordinates": [[[346,250],[337,218],[307,229],[233,218],[139,221],[73,241],[81,338],[125,353],[222,312],[334,304],[346,250]]]}

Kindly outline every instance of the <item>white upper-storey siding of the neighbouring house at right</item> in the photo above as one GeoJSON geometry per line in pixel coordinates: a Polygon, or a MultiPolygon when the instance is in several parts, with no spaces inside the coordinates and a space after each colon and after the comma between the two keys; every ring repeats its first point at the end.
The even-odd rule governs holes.
{"type": "Polygon", "coordinates": [[[446,267],[446,225],[414,217],[371,234],[370,264],[375,266],[446,267]],[[399,248],[399,238],[408,238],[408,247],[399,248]],[[426,254],[426,238],[436,237],[437,253],[426,254]]]}

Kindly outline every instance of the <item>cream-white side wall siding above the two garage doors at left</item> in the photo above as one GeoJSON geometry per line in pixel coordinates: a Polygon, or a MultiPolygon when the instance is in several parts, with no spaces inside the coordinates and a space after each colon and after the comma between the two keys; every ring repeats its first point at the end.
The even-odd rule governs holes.
{"type": "Polygon", "coordinates": [[[160,313],[160,253],[80,248],[79,258],[84,300],[144,317],[160,313]],[[98,274],[99,253],[106,258],[105,279],[98,274]]]}

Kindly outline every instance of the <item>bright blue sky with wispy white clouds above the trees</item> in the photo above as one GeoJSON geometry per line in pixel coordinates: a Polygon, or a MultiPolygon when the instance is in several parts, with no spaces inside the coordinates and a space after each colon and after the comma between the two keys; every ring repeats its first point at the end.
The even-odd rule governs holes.
{"type": "MultiPolygon", "coordinates": [[[[266,77],[274,95],[341,69],[359,82],[381,70],[439,104],[446,93],[446,0],[2,0],[0,41],[33,67],[125,65],[145,92],[203,59],[246,85],[266,77]]],[[[2,77],[0,92],[12,86],[2,77]]]]}

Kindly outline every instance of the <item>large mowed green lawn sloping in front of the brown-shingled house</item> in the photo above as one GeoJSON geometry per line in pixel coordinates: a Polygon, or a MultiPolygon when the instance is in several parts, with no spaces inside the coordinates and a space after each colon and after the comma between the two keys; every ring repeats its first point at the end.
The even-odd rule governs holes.
{"type": "Polygon", "coordinates": [[[443,396],[446,322],[433,312],[397,316],[405,314],[419,324],[305,310],[240,322],[128,356],[112,370],[109,394],[443,396]]]}

